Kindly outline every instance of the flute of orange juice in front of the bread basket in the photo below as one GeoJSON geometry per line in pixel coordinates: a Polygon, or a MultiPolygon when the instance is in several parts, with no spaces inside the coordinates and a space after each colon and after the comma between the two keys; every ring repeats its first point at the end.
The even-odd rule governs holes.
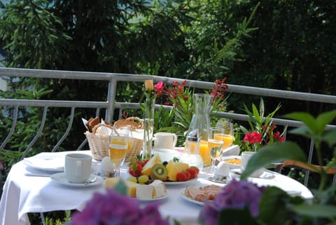
{"type": "Polygon", "coordinates": [[[120,167],[123,165],[130,139],[130,127],[113,127],[110,134],[109,156],[116,166],[116,175],[120,175],[120,167]]]}

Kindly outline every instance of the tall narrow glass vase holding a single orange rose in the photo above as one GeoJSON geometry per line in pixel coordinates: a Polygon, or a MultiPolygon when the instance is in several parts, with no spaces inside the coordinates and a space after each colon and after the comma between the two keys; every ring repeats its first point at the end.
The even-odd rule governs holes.
{"type": "Polygon", "coordinates": [[[144,147],[142,159],[151,158],[153,146],[155,97],[146,98],[144,113],[144,147]]]}

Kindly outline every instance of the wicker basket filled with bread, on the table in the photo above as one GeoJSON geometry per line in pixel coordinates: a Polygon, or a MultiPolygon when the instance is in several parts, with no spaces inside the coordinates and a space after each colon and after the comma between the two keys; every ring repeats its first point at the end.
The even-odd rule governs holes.
{"type": "MultiPolygon", "coordinates": [[[[96,134],[97,129],[101,126],[112,128],[111,125],[99,123],[98,125],[94,126],[92,132],[85,132],[87,142],[89,142],[92,157],[98,161],[101,161],[105,156],[109,156],[109,135],[96,134]]],[[[144,143],[143,139],[139,138],[141,137],[140,133],[143,132],[142,121],[139,118],[130,117],[116,121],[113,126],[130,126],[132,137],[130,138],[131,141],[129,142],[129,151],[125,157],[125,162],[129,162],[131,158],[136,158],[137,155],[141,153],[141,149],[144,143]]]]}

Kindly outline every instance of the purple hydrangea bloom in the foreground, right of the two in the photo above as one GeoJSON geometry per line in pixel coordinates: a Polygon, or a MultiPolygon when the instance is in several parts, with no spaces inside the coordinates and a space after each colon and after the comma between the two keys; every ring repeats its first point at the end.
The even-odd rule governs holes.
{"type": "Polygon", "coordinates": [[[218,213],[228,208],[243,209],[248,207],[252,217],[258,217],[259,203],[265,187],[259,187],[247,181],[233,179],[219,191],[214,201],[204,204],[200,220],[204,225],[216,225],[218,213]]]}

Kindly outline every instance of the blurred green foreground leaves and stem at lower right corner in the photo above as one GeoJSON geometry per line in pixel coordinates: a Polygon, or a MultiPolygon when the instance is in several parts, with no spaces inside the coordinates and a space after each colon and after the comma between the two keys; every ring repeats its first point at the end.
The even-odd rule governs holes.
{"type": "MultiPolygon", "coordinates": [[[[322,142],[328,142],[330,149],[336,144],[335,138],[330,139],[328,135],[326,135],[327,138],[325,138],[324,135],[325,132],[335,134],[335,129],[325,130],[325,126],[336,118],[336,111],[325,112],[316,118],[311,116],[311,114],[302,112],[287,114],[286,117],[302,121],[303,125],[300,128],[295,128],[292,132],[314,140],[318,162],[322,163],[322,142]]],[[[265,146],[260,149],[251,160],[248,161],[248,165],[246,170],[242,173],[241,179],[246,179],[254,170],[265,167],[269,165],[269,163],[275,163],[276,161],[283,161],[286,159],[300,161],[310,165],[307,163],[307,158],[300,146],[294,142],[286,141],[265,146]]],[[[333,156],[325,169],[318,171],[321,176],[321,183],[318,190],[313,190],[315,198],[312,204],[307,204],[300,199],[296,200],[295,198],[290,198],[277,189],[266,192],[265,196],[262,196],[262,201],[260,203],[260,218],[265,219],[263,222],[265,222],[265,224],[283,224],[287,220],[287,222],[291,224],[293,219],[295,219],[298,224],[328,224],[328,222],[332,223],[335,221],[336,187],[325,185],[327,176],[325,171],[330,167],[336,167],[335,156],[333,156]],[[278,206],[279,204],[281,207],[274,207],[274,205],[278,206]],[[270,215],[280,214],[283,216],[270,217],[270,215]],[[289,217],[285,217],[286,215],[289,217]]]]}

